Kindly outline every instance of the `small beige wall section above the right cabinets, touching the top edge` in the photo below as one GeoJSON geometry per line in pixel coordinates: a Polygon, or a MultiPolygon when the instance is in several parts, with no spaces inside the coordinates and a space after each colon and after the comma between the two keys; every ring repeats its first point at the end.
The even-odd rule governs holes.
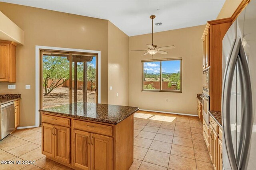
{"type": "Polygon", "coordinates": [[[216,19],[231,17],[242,0],[226,0],[216,19]]]}

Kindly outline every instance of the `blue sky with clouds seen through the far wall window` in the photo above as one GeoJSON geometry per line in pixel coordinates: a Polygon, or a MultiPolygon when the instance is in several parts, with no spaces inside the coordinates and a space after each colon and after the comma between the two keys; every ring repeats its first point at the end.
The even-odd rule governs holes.
{"type": "MultiPolygon", "coordinates": [[[[144,68],[148,71],[147,73],[159,73],[160,72],[160,62],[146,62],[144,63],[144,68]]],[[[162,72],[167,73],[177,73],[180,71],[180,61],[162,61],[162,72]]]]}

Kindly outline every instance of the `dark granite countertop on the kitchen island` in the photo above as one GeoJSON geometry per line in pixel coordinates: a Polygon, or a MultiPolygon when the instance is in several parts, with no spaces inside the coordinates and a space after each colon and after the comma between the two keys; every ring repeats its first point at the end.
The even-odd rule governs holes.
{"type": "Polygon", "coordinates": [[[138,107],[78,102],[40,109],[39,111],[116,125],[138,110],[138,107]]]}

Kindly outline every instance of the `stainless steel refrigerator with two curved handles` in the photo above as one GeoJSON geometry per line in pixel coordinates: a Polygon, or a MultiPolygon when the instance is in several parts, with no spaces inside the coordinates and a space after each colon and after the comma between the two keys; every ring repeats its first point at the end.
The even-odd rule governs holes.
{"type": "Polygon", "coordinates": [[[223,169],[256,170],[256,0],[222,41],[223,169]]]}

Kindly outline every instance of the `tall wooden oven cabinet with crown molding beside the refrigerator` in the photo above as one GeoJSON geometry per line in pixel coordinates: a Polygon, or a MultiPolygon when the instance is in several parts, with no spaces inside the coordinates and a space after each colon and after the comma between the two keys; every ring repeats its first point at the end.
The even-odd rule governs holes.
{"type": "Polygon", "coordinates": [[[208,21],[202,35],[203,69],[210,68],[210,110],[214,111],[221,111],[222,39],[231,24],[231,18],[208,21]]]}

